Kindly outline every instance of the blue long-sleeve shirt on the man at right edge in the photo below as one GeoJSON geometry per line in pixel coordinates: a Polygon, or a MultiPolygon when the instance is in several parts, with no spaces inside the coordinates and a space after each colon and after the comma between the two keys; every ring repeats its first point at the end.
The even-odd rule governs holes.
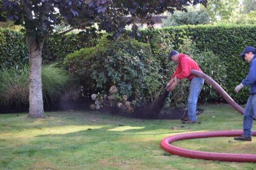
{"type": "Polygon", "coordinates": [[[246,78],[242,81],[244,86],[250,87],[250,94],[256,93],[256,55],[253,56],[253,59],[250,62],[249,73],[246,78]]]}

